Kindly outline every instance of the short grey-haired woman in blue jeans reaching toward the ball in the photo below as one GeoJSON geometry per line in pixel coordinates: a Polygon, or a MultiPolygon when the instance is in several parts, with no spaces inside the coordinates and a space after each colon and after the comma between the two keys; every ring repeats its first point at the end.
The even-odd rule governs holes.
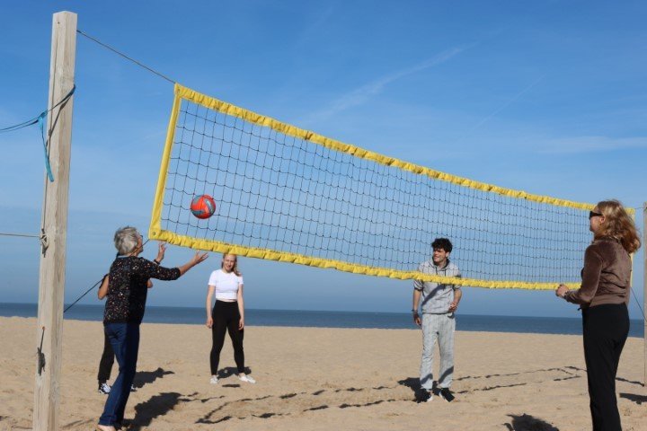
{"type": "Polygon", "coordinates": [[[160,243],[153,261],[138,257],[144,251],[142,236],[134,227],[123,227],[114,236],[117,259],[110,269],[110,289],[103,314],[103,328],[110,339],[120,372],[106,400],[98,429],[120,429],[129,399],[130,385],[137,369],[139,325],[146,309],[149,278],[174,280],[207,259],[207,253],[196,252],[191,260],[178,268],[160,266],[166,246],[160,243]]]}

